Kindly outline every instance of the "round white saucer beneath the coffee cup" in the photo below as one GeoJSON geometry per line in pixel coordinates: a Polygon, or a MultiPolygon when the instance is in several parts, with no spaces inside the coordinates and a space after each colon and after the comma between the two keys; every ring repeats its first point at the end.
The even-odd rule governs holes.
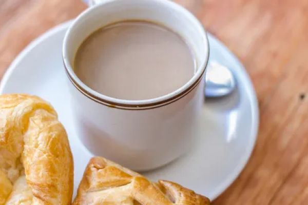
{"type": "MultiPolygon", "coordinates": [[[[13,61],[1,82],[0,93],[34,94],[54,106],[68,132],[76,191],[91,153],[76,136],[71,120],[67,76],[62,63],[62,40],[69,24],[59,25],[34,40],[13,61]]],[[[194,151],[144,174],[152,180],[176,181],[214,199],[236,179],[251,155],[259,115],[255,91],[243,66],[212,35],[209,35],[209,43],[210,58],[233,71],[238,89],[228,97],[206,101],[199,143],[194,151]]]]}

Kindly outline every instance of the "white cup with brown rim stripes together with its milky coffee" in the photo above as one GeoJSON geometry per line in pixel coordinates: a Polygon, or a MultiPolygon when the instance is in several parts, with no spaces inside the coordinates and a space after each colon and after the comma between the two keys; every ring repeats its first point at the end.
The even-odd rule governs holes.
{"type": "Polygon", "coordinates": [[[166,165],[198,130],[205,30],[172,1],[90,2],[97,5],[74,20],[63,43],[78,137],[93,155],[136,171],[166,165]]]}

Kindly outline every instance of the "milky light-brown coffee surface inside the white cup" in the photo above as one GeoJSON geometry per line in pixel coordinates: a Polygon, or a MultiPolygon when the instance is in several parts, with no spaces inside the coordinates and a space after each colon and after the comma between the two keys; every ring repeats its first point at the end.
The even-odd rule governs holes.
{"type": "Polygon", "coordinates": [[[175,32],[149,22],[115,23],[92,33],[75,56],[74,71],[91,89],[119,99],[171,93],[194,75],[195,58],[175,32]]]}

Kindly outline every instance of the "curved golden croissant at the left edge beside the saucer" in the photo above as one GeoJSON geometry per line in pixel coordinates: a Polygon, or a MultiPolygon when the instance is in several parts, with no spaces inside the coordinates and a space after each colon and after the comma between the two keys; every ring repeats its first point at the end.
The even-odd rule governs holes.
{"type": "Polygon", "coordinates": [[[73,159],[62,124],[43,99],[0,96],[0,205],[71,203],[73,159]]]}

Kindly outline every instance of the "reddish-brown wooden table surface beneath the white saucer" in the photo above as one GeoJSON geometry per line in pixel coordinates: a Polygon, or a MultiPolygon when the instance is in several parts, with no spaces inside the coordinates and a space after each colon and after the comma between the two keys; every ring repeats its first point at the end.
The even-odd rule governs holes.
{"type": "MultiPolygon", "coordinates": [[[[308,1],[181,0],[243,62],[259,99],[248,165],[213,204],[308,204],[308,1]]],[[[0,77],[80,0],[0,0],[0,77]]]]}

